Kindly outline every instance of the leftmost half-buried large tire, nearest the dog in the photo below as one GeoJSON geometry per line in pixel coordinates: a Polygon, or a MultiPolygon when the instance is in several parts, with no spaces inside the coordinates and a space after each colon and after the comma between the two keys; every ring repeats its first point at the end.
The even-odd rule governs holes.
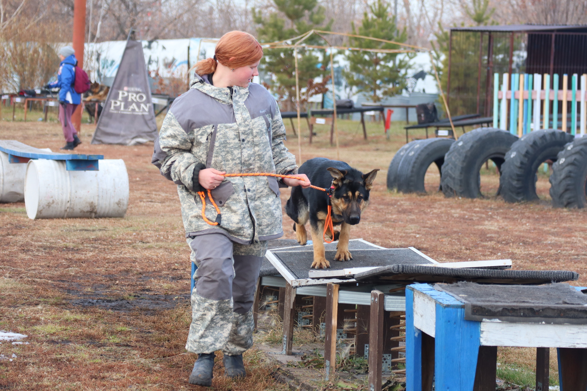
{"type": "Polygon", "coordinates": [[[441,172],[444,155],[453,142],[448,138],[427,138],[404,145],[389,164],[387,188],[402,193],[426,193],[424,177],[427,169],[434,163],[441,172]]]}

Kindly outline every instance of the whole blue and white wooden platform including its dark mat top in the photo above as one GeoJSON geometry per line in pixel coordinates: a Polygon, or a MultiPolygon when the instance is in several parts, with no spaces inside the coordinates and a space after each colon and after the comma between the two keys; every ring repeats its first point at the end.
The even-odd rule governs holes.
{"type": "Polygon", "coordinates": [[[557,348],[561,391],[587,389],[586,288],[568,284],[412,284],[406,391],[495,390],[497,346],[536,347],[536,390],[557,348]]]}

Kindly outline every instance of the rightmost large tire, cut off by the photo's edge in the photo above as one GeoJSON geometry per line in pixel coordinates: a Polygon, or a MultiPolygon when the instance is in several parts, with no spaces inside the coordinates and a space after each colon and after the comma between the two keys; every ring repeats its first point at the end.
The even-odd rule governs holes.
{"type": "Polygon", "coordinates": [[[587,137],[565,145],[552,165],[550,194],[554,208],[587,206],[587,137]]]}

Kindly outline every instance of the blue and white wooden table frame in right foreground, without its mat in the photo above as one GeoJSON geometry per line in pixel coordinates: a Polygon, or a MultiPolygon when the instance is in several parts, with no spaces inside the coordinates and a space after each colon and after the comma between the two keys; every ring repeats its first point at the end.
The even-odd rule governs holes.
{"type": "Polygon", "coordinates": [[[497,346],[538,348],[537,391],[548,391],[548,352],[557,348],[560,390],[587,390],[587,325],[477,322],[464,312],[432,285],[407,287],[406,391],[430,391],[433,380],[436,391],[495,390],[497,346]]]}

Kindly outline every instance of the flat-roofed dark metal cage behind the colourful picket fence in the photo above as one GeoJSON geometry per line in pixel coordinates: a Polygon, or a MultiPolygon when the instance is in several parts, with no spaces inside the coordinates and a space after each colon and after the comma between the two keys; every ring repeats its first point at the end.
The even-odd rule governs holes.
{"type": "Polygon", "coordinates": [[[495,73],[587,73],[587,25],[452,28],[448,53],[451,114],[489,116],[495,73]]]}

